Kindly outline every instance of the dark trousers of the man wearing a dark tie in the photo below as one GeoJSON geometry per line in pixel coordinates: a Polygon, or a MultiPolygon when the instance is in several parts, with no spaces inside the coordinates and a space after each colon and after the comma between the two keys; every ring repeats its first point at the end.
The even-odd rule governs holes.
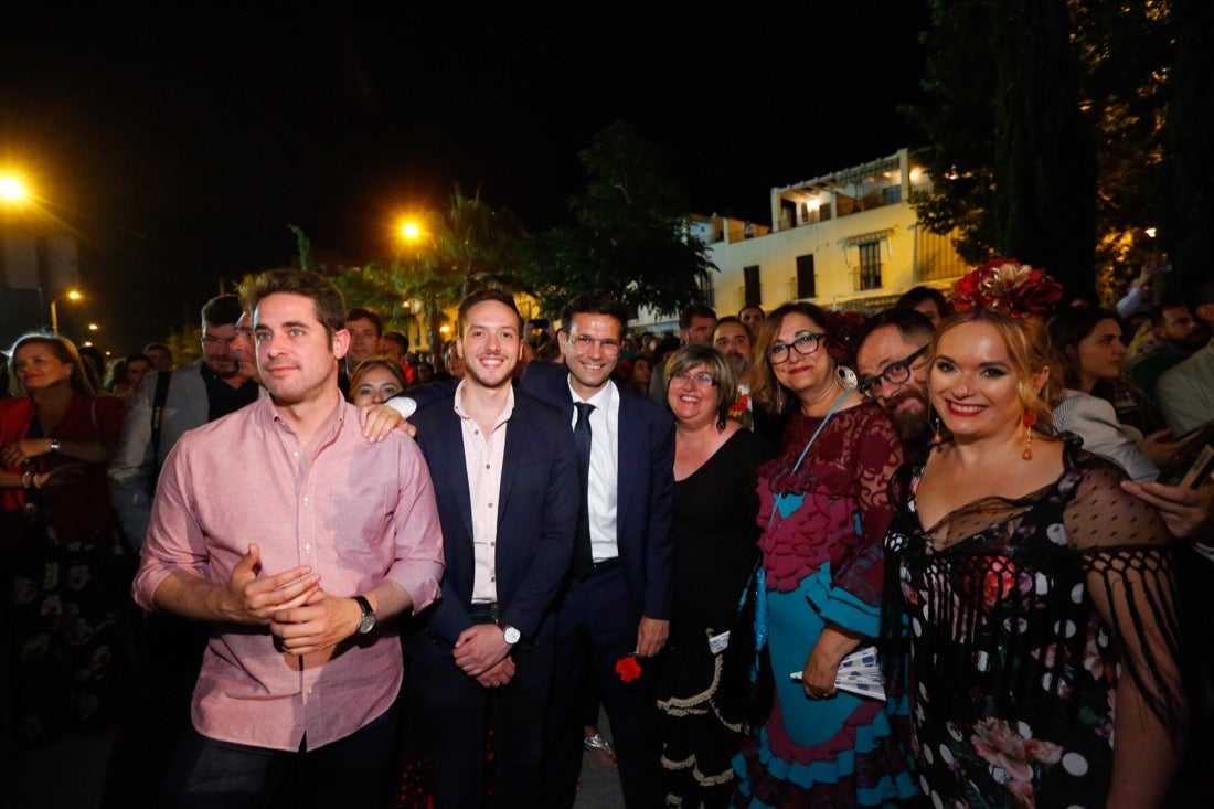
{"type": "MultiPolygon", "coordinates": [[[[556,666],[544,740],[545,809],[568,809],[582,771],[584,688],[599,688],[611,722],[624,804],[651,809],[663,804],[660,743],[653,672],[624,683],[615,662],[636,650],[640,616],[628,598],[619,568],[572,581],[556,617],[556,666]]],[[[642,671],[654,661],[641,661],[642,671]]]]}

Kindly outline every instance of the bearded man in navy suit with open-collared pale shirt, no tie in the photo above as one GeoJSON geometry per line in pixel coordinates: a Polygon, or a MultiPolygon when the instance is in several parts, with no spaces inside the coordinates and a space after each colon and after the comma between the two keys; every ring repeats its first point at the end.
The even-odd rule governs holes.
{"type": "Polygon", "coordinates": [[[405,737],[435,763],[435,805],[476,807],[493,729],[494,802],[534,807],[551,686],[552,605],[578,519],[577,454],[560,411],[512,389],[514,299],[464,299],[454,394],[413,417],[438,496],[442,600],[405,634],[405,737]]]}

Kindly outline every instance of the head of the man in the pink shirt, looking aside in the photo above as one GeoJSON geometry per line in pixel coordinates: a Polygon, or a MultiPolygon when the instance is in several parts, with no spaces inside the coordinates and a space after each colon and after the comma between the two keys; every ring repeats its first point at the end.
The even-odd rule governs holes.
{"type": "Polygon", "coordinates": [[[257,304],[253,323],[257,370],[276,405],[318,401],[337,392],[337,360],[346,355],[350,335],[342,329],[330,339],[311,298],[267,295],[257,304]]]}

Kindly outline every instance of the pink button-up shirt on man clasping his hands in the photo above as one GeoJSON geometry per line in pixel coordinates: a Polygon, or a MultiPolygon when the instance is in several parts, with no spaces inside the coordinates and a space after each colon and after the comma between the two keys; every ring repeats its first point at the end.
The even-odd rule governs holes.
{"type": "MultiPolygon", "coordinates": [[[[135,600],[153,609],[176,571],[222,584],[261,548],[262,575],[311,565],[320,588],[348,598],[396,582],[420,611],[438,595],[442,533],[430,471],[401,431],[368,443],[358,411],[342,402],[306,463],[295,432],[261,400],[186,432],[165,462],[135,600]]],[[[268,627],[212,629],[194,689],[193,722],[220,741],[308,749],[382,714],[401,688],[401,643],[391,629],[354,635],[324,662],[302,664],[274,647],[268,627]]]]}

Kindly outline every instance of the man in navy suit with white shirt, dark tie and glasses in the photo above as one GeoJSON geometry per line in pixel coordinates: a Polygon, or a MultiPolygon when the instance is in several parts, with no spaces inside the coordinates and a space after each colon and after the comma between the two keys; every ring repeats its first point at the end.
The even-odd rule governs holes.
{"type": "Polygon", "coordinates": [[[582,765],[580,689],[589,678],[597,681],[611,720],[625,804],[663,803],[656,663],[647,658],[662,650],[669,633],[674,418],[611,380],[625,318],[620,304],[605,293],[574,298],[557,335],[565,367],[529,363],[520,383],[521,390],[561,408],[582,464],[579,538],[556,620],[545,807],[573,805],[582,765]],[[625,683],[615,664],[631,655],[643,673],[625,683]]]}

